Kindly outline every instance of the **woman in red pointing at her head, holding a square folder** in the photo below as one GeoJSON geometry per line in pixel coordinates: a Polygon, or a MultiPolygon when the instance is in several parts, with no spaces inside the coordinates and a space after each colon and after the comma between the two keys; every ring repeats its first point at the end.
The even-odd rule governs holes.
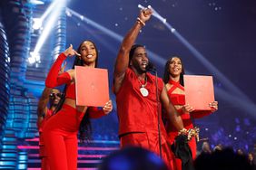
{"type": "Polygon", "coordinates": [[[54,62],[45,85],[54,88],[65,84],[62,99],[56,114],[49,118],[43,128],[44,144],[48,162],[53,170],[77,169],[77,134],[84,141],[91,134],[90,118],[99,118],[112,109],[112,101],[108,101],[103,109],[75,105],[74,69],[58,74],[67,56],[75,56],[74,65],[97,67],[98,52],[94,42],[84,41],[75,52],[70,45],[54,62]],[[79,52],[79,53],[78,53],[79,52]]]}

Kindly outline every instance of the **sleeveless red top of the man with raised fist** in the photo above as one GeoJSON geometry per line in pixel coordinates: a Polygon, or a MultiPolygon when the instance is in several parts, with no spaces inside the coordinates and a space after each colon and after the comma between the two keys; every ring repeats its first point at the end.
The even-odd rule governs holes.
{"type": "MultiPolygon", "coordinates": [[[[146,73],[147,83],[145,89],[149,94],[143,97],[140,92],[141,84],[133,70],[128,68],[125,72],[122,87],[115,94],[117,104],[117,115],[119,118],[119,135],[130,132],[157,132],[158,116],[156,101],[156,77],[146,73]]],[[[161,79],[157,79],[158,100],[163,88],[161,79]]],[[[144,84],[144,82],[142,82],[144,84]]],[[[162,114],[162,104],[159,102],[159,113],[162,114]]],[[[162,135],[166,132],[161,120],[162,135]]]]}

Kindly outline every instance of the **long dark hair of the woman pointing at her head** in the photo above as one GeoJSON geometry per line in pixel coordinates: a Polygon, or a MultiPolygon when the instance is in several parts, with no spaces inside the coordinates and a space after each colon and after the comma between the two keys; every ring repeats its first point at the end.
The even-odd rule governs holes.
{"type": "MultiPolygon", "coordinates": [[[[84,41],[84,42],[92,42],[92,41],[84,41]]],[[[81,53],[81,47],[83,45],[84,42],[81,42],[77,51],[78,53],[81,53]]],[[[92,42],[94,44],[94,48],[95,48],[95,51],[96,51],[96,61],[95,61],[95,68],[98,67],[98,50],[95,46],[95,43],[92,42]]],[[[79,56],[75,56],[75,59],[74,59],[74,64],[73,64],[73,69],[74,69],[74,66],[77,65],[77,66],[84,66],[84,61],[81,59],[81,57],[79,56]]],[[[54,110],[54,113],[58,112],[62,107],[63,107],[63,104],[64,104],[64,99],[65,99],[65,93],[66,93],[66,85],[64,86],[64,91],[62,93],[62,97],[59,101],[59,104],[57,106],[57,108],[54,110]]],[[[89,117],[89,107],[86,109],[86,112],[84,114],[84,118],[82,119],[81,123],[80,123],[80,126],[79,126],[79,139],[82,143],[84,143],[84,141],[88,141],[92,138],[92,125],[91,125],[91,121],[90,121],[90,117],[89,117]]]]}

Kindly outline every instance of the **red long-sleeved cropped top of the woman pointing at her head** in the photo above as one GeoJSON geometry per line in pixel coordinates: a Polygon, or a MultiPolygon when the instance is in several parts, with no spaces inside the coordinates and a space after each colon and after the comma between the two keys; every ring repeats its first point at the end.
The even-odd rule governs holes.
{"type": "MultiPolygon", "coordinates": [[[[65,98],[75,99],[75,83],[72,81],[68,72],[64,72],[59,74],[61,70],[62,63],[66,59],[64,53],[61,53],[57,60],[54,62],[51,70],[49,71],[46,80],[45,86],[47,88],[54,88],[56,86],[60,86],[66,84],[65,98]]],[[[96,107],[88,108],[88,113],[90,114],[90,118],[100,118],[104,115],[102,109],[98,109],[96,107]]]]}

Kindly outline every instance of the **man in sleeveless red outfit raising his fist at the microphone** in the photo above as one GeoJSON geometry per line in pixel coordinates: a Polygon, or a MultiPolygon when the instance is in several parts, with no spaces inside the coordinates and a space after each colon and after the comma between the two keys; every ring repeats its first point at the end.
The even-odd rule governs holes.
{"type": "Polygon", "coordinates": [[[162,155],[165,163],[172,168],[171,150],[166,143],[166,131],[159,114],[163,107],[178,130],[183,128],[182,119],[168,99],[162,80],[146,71],[149,60],[145,48],[133,45],[152,13],[151,9],[143,9],[124,37],[114,66],[113,91],[116,95],[121,147],[141,146],[149,149],[162,155]]]}

